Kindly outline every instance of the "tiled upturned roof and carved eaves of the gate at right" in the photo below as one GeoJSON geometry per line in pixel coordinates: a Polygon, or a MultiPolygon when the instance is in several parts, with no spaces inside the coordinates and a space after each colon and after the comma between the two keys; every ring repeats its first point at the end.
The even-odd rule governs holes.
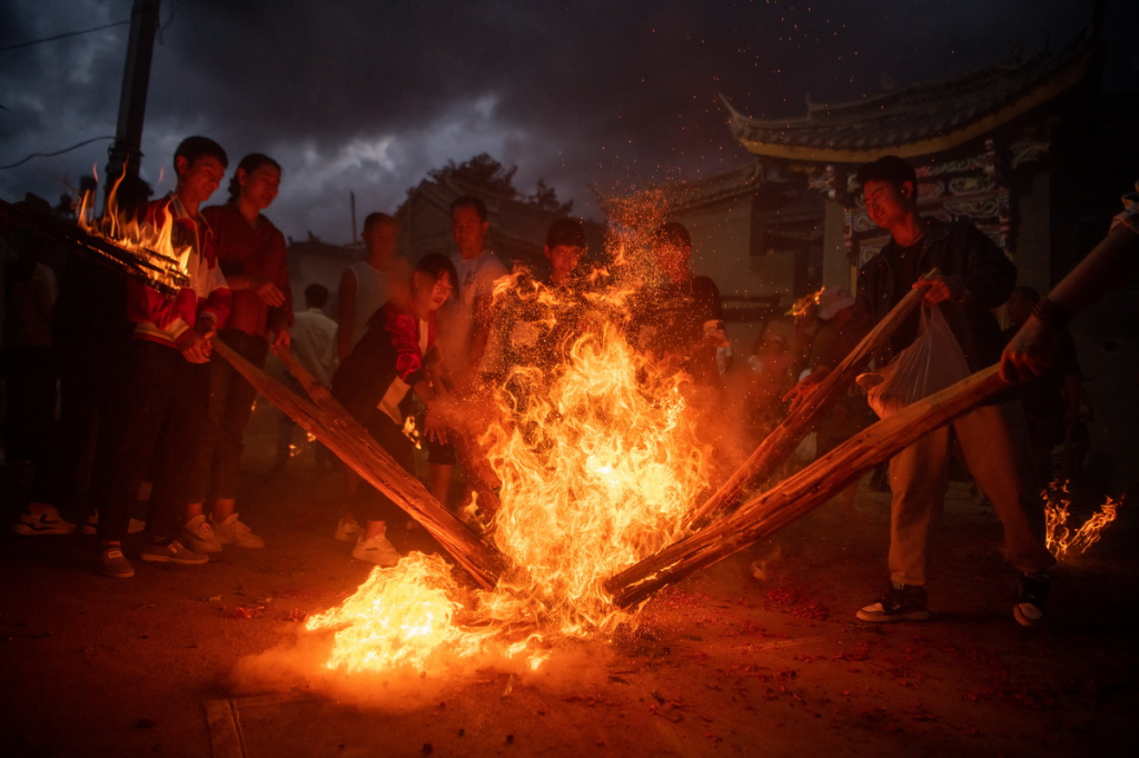
{"type": "Polygon", "coordinates": [[[1098,57],[1089,27],[1057,52],[1022,59],[1015,49],[968,74],[887,81],[882,93],[854,102],[809,100],[798,118],[752,118],[729,105],[730,127],[761,163],[802,174],[826,196],[823,283],[853,283],[853,270],[886,241],[853,174],[898,155],[917,168],[923,213],[972,219],[1016,261],[1022,283],[1048,289],[1055,269],[1066,270],[1067,252],[1080,249],[1081,206],[1093,195],[1088,116],[1098,57]]]}

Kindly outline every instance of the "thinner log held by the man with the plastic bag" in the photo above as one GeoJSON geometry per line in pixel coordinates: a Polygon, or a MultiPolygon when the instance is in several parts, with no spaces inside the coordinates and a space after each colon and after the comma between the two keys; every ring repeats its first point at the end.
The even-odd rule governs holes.
{"type": "MultiPolygon", "coordinates": [[[[936,277],[940,272],[934,269],[927,273],[923,279],[931,279],[936,277]]],[[[818,388],[802,405],[795,409],[782,422],[776,427],[771,434],[769,434],[760,446],[755,448],[755,452],[744,461],[744,464],[739,467],[731,478],[729,478],[723,485],[715,492],[714,495],[707,499],[699,509],[689,518],[688,525],[696,524],[704,517],[715,512],[716,510],[726,506],[730,506],[735,503],[740,494],[744,492],[744,487],[751,481],[762,481],[763,479],[771,476],[776,468],[787,460],[795,447],[803,440],[803,438],[811,431],[811,427],[818,420],[819,415],[822,414],[830,403],[838,397],[839,393],[845,392],[850,387],[851,382],[854,381],[854,377],[862,370],[867,361],[870,360],[870,355],[884,346],[886,340],[890,339],[891,335],[902,324],[903,321],[910,315],[910,313],[918,306],[921,302],[921,297],[925,295],[927,287],[920,287],[918,289],[910,290],[910,293],[901,299],[886,314],[886,318],[879,321],[870,332],[862,338],[862,340],[851,351],[851,354],[843,359],[843,362],[835,366],[835,370],[828,373],[822,381],[819,382],[818,388]]]]}

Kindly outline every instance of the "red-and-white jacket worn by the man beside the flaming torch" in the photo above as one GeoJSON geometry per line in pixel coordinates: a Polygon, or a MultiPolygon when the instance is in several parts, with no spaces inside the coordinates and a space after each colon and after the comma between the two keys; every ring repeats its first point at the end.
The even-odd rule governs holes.
{"type": "Polygon", "coordinates": [[[171,238],[175,249],[190,248],[186,256],[190,286],[170,297],[131,279],[126,290],[126,315],[134,322],[136,337],[179,347],[198,319],[210,319],[215,326],[223,324],[229,315],[231,295],[218,265],[218,250],[210,225],[190,216],[177,195],[149,203],[144,221],[149,225],[161,225],[167,214],[174,219],[171,238]]]}

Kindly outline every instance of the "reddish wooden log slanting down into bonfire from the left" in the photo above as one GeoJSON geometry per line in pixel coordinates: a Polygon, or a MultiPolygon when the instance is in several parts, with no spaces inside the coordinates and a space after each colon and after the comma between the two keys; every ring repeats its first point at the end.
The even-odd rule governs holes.
{"type": "Polygon", "coordinates": [[[273,405],[421,524],[482,587],[494,587],[500,570],[498,555],[376,444],[363,427],[295,360],[286,361],[286,365],[319,406],[297,397],[220,339],[213,340],[213,349],[273,405]]]}

